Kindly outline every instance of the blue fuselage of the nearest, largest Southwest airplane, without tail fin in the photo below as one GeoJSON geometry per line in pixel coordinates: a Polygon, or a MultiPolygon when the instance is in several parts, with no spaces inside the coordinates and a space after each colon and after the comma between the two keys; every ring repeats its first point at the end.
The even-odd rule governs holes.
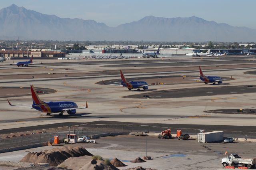
{"type": "MultiPolygon", "coordinates": [[[[40,112],[61,113],[63,109],[78,108],[77,104],[71,101],[44,102],[43,105],[33,104],[32,107],[40,112]]],[[[68,111],[68,114],[75,114],[76,110],[68,111]]]]}

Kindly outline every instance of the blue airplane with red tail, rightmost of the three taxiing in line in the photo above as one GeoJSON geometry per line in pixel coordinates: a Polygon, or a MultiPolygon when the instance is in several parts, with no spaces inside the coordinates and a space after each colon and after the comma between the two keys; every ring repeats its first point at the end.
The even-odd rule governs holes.
{"type": "MultiPolygon", "coordinates": [[[[230,79],[222,79],[221,77],[218,77],[218,76],[205,76],[200,66],[199,66],[199,71],[200,71],[200,79],[188,79],[188,80],[203,81],[205,84],[213,83],[215,85],[216,83],[221,84],[223,80],[232,79],[232,77],[230,79]]],[[[186,75],[183,75],[182,78],[186,79],[186,75]]]]}

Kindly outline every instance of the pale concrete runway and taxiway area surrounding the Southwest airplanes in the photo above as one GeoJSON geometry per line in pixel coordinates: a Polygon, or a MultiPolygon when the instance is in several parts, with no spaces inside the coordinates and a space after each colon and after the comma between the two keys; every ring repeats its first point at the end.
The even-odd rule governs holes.
{"type": "Polygon", "coordinates": [[[30,84],[33,84],[34,87],[53,90],[54,93],[40,95],[43,101],[74,101],[79,107],[84,106],[87,101],[89,108],[78,110],[75,115],[64,113],[64,116],[60,117],[57,113],[46,116],[45,113],[35,110],[10,107],[6,102],[6,99],[9,99],[13,104],[31,105],[30,94],[7,93],[9,95],[4,95],[6,98],[0,99],[0,129],[8,131],[13,128],[51,127],[67,122],[84,124],[96,121],[177,126],[255,126],[255,114],[226,114],[224,111],[207,113],[220,109],[255,107],[256,79],[254,76],[244,74],[245,71],[256,69],[254,57],[65,60],[56,63],[48,61],[45,65],[51,66],[42,68],[43,65],[33,65],[33,67],[17,68],[13,65],[0,65],[0,70],[8,67],[10,72],[8,79],[6,71],[0,73],[0,77],[6,76],[6,79],[0,80],[0,87],[18,89],[29,88],[30,84]],[[136,67],[133,67],[134,65],[136,67]],[[206,75],[220,77],[232,75],[234,79],[224,81],[220,85],[205,85],[182,79],[181,75],[198,77],[198,65],[203,65],[206,75]],[[17,71],[19,69],[22,71],[17,71]],[[147,81],[149,84],[156,84],[158,81],[158,84],[163,83],[163,85],[152,85],[149,91],[128,91],[125,87],[103,85],[102,79],[104,82],[120,82],[120,69],[128,80],[147,81]],[[37,75],[48,76],[48,72],[56,74],[35,78],[37,75]],[[149,99],[143,95],[149,95],[149,99]]]}

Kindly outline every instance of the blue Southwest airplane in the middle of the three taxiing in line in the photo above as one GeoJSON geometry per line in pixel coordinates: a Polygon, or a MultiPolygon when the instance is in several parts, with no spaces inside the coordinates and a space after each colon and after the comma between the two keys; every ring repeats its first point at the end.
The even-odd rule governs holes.
{"type": "MultiPolygon", "coordinates": [[[[132,89],[137,89],[137,91],[140,91],[140,88],[147,90],[148,89],[148,83],[145,81],[127,81],[126,78],[124,77],[124,74],[122,72],[122,70],[120,70],[120,74],[121,74],[121,79],[122,82],[112,82],[112,83],[118,83],[118,84],[107,84],[107,85],[116,85],[116,86],[121,86],[121,87],[127,87],[128,90],[132,90],[132,89]]],[[[103,80],[102,80],[103,81],[103,80]]],[[[104,81],[103,81],[103,84],[104,81]]]]}

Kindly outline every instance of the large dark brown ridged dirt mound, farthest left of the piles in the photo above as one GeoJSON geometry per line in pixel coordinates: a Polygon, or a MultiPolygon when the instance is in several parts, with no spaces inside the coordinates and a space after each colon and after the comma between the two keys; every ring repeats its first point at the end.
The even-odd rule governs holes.
{"type": "Polygon", "coordinates": [[[60,147],[45,150],[44,152],[29,152],[20,162],[48,163],[50,166],[57,166],[70,157],[84,155],[92,156],[92,154],[83,147],[60,147]]]}

